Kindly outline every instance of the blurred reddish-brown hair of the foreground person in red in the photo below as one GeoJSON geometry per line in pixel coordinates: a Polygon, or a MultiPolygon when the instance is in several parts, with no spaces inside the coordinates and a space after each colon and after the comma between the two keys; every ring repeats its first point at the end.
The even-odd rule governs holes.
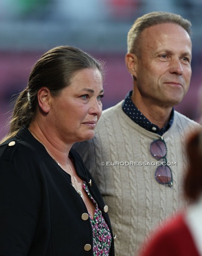
{"type": "Polygon", "coordinates": [[[187,142],[188,170],[184,179],[184,193],[190,201],[202,194],[202,131],[192,134],[187,142]]]}

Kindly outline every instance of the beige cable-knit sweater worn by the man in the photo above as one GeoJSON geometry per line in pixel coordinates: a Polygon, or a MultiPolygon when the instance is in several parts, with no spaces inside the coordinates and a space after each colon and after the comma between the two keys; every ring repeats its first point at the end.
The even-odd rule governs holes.
{"type": "Polygon", "coordinates": [[[94,139],[74,145],[109,207],[116,256],[137,255],[150,231],[184,205],[184,143],[186,134],[200,127],[175,111],[173,125],[163,136],[167,162],[173,163],[172,187],[160,185],[154,176],[157,166],[152,164],[158,161],[150,154],[149,145],[159,135],[125,115],[122,102],[103,111],[94,139]]]}

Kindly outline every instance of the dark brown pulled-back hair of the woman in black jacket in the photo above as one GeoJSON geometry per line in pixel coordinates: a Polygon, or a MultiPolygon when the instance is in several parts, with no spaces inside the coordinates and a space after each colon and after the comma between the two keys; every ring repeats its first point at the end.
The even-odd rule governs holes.
{"type": "Polygon", "coordinates": [[[85,68],[98,69],[104,79],[103,62],[78,48],[58,46],[44,53],[31,70],[27,87],[16,99],[9,133],[1,142],[13,137],[23,125],[29,126],[36,115],[41,87],[47,87],[57,97],[70,85],[74,74],[85,68]]]}

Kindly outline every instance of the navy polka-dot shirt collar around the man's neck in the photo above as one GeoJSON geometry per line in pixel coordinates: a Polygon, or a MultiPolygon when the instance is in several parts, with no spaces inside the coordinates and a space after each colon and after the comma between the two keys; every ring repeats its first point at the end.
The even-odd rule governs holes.
{"type": "Polygon", "coordinates": [[[133,122],[140,125],[142,128],[157,133],[159,135],[163,135],[173,124],[174,120],[174,108],[172,109],[171,116],[169,119],[169,122],[160,129],[157,125],[150,122],[141,112],[139,109],[136,108],[134,103],[131,100],[132,91],[130,91],[127,96],[125,97],[125,100],[122,105],[122,109],[125,114],[127,114],[133,122]]]}

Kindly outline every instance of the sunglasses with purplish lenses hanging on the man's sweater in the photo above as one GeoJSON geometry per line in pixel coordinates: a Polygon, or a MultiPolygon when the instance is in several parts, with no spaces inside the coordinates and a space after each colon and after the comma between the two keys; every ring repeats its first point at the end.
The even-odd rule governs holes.
{"type": "Polygon", "coordinates": [[[173,186],[173,175],[170,167],[167,165],[167,147],[166,143],[161,137],[161,139],[154,140],[150,144],[150,153],[151,155],[156,158],[157,160],[163,159],[163,163],[157,167],[155,172],[155,178],[158,183],[163,185],[169,185],[170,187],[173,186]]]}

